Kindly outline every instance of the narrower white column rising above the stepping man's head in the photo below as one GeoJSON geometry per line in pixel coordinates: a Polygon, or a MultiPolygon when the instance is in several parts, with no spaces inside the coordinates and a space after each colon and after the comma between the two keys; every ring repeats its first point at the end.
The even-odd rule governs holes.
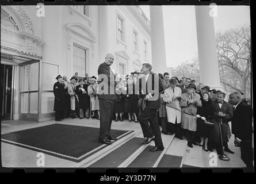
{"type": "Polygon", "coordinates": [[[165,31],[162,6],[150,6],[152,71],[166,72],[165,31]]]}

